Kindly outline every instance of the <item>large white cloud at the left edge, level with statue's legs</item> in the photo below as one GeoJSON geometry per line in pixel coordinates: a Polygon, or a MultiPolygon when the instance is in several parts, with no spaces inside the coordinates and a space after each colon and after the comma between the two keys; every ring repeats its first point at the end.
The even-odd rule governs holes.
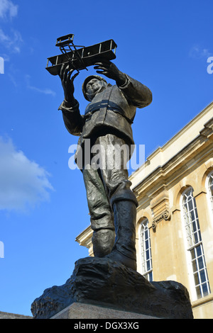
{"type": "Polygon", "coordinates": [[[48,201],[53,186],[43,167],[0,137],[0,210],[26,210],[48,201]]]}

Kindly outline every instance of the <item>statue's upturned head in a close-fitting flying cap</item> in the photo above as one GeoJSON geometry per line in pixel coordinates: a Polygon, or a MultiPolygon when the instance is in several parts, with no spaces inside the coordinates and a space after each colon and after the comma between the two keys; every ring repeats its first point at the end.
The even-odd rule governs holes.
{"type": "Polygon", "coordinates": [[[84,94],[84,98],[87,101],[92,101],[95,95],[97,95],[100,91],[105,89],[107,86],[107,81],[99,75],[90,75],[87,79],[84,80],[82,85],[82,91],[84,94]]]}

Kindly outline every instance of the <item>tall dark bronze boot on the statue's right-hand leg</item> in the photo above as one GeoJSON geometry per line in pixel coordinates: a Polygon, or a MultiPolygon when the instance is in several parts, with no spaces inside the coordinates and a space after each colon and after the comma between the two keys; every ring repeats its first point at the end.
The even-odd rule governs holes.
{"type": "Polygon", "coordinates": [[[136,271],[136,203],[116,201],[113,208],[116,239],[111,253],[105,258],[136,271]]]}

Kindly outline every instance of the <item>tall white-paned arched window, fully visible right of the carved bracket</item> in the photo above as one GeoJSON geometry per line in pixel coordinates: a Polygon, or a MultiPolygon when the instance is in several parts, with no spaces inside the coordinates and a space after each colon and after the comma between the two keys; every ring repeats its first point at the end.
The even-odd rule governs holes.
{"type": "Polygon", "coordinates": [[[202,298],[210,293],[210,288],[202,247],[197,205],[192,187],[187,188],[182,193],[182,213],[187,237],[187,251],[190,252],[196,295],[197,298],[202,298]]]}

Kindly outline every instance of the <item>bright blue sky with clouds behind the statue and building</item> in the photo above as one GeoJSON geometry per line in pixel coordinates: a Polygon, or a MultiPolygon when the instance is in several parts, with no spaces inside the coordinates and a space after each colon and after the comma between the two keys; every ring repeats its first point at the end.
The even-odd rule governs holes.
{"type": "MultiPolygon", "coordinates": [[[[33,300],[88,255],[75,242],[89,225],[82,174],[68,167],[77,137],[58,111],[60,79],[45,70],[56,38],[114,39],[116,66],[153,92],[133,124],[147,157],[212,102],[212,9],[212,0],[0,0],[0,311],[31,315],[33,300]]],[[[82,113],[82,81],[94,73],[75,79],[82,113]]]]}

